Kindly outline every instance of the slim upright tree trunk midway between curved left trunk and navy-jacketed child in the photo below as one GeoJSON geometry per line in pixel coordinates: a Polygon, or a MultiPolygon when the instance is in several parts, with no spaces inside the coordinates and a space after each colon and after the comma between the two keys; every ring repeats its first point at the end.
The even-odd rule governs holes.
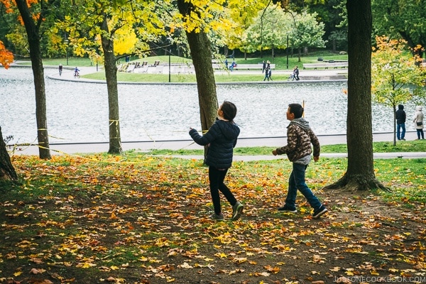
{"type": "Polygon", "coordinates": [[[101,25],[102,49],[104,50],[105,77],[107,78],[108,109],[109,109],[109,154],[121,154],[119,90],[117,88],[117,67],[114,55],[114,40],[109,36],[107,15],[101,25]]]}

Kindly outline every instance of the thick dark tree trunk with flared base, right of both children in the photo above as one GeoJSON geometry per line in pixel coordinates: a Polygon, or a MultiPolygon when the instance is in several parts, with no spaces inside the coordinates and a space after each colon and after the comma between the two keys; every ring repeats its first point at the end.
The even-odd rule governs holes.
{"type": "Polygon", "coordinates": [[[371,126],[371,0],[348,0],[348,114],[346,139],[348,168],[344,176],[325,188],[343,190],[386,189],[376,180],[371,126]]]}

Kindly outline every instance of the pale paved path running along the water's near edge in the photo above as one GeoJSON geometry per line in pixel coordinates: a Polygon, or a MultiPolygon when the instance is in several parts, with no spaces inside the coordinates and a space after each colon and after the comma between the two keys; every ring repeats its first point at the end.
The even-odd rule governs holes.
{"type": "MultiPolygon", "coordinates": [[[[415,132],[407,132],[406,138],[415,139],[415,132]]],[[[346,143],[346,135],[319,135],[322,145],[344,144],[346,143]]],[[[393,133],[374,133],[373,141],[393,141],[393,133]]],[[[280,147],[284,146],[286,137],[267,137],[267,138],[239,138],[236,148],[242,147],[280,147]]],[[[181,149],[202,149],[192,140],[175,140],[175,141],[138,141],[138,142],[122,142],[124,151],[149,151],[151,149],[169,149],[170,155],[173,151],[181,149]]],[[[52,155],[77,154],[77,153],[102,153],[109,150],[109,143],[52,143],[50,144],[50,153],[52,155]]],[[[23,146],[18,155],[38,155],[37,146],[23,146]]],[[[196,158],[201,159],[200,155],[176,155],[180,158],[196,158]]],[[[346,153],[322,153],[321,157],[342,158],[347,157],[346,153]]],[[[397,152],[397,153],[374,153],[374,158],[426,158],[426,152],[397,152]]],[[[234,160],[273,160],[285,158],[283,155],[234,155],[234,160]]]]}

